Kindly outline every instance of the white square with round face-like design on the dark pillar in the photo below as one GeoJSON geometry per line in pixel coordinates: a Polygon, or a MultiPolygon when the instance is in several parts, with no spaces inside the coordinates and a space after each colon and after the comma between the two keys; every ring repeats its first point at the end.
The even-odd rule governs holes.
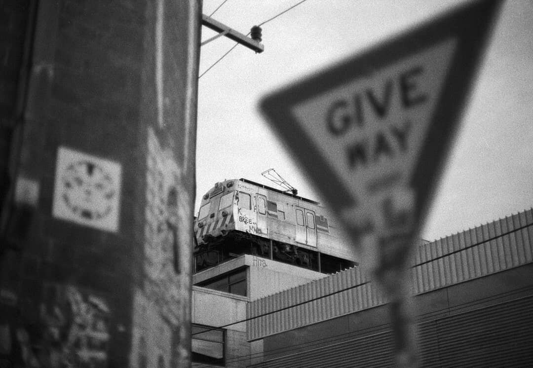
{"type": "Polygon", "coordinates": [[[55,168],[53,216],[116,232],[121,179],[120,163],[60,147],[55,168]]]}

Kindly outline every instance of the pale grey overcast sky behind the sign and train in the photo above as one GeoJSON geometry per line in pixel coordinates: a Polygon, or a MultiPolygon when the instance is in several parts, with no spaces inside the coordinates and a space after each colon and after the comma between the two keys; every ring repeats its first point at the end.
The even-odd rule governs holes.
{"type": "MultiPolygon", "coordinates": [[[[204,0],[210,15],[223,0],[204,0]]],[[[300,0],[228,0],[213,18],[247,34],[300,0]]],[[[265,51],[237,46],[198,86],[197,193],[216,182],[274,168],[298,194],[324,203],[259,111],[276,89],[360,54],[465,0],[307,0],[262,26],[265,51]]],[[[215,32],[202,27],[202,39],[215,32]]],[[[201,47],[200,75],[235,42],[201,47]]],[[[426,240],[461,232],[533,206],[533,2],[507,1],[495,23],[478,78],[435,186],[426,240]]]]}

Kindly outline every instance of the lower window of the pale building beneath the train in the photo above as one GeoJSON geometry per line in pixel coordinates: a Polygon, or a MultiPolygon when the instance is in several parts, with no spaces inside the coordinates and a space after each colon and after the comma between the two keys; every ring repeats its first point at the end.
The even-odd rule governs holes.
{"type": "Polygon", "coordinates": [[[192,362],[225,365],[226,331],[192,324],[192,362]]]}

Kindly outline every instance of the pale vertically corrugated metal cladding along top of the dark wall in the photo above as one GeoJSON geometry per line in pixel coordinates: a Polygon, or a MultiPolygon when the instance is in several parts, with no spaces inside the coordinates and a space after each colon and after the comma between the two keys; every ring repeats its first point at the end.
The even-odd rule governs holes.
{"type": "MultiPolygon", "coordinates": [[[[529,224],[533,224],[532,209],[431,243],[419,244],[413,264],[428,263],[412,268],[413,293],[439,289],[531,263],[533,226],[529,224]],[[524,228],[515,231],[521,227],[524,228]]],[[[247,306],[248,318],[302,304],[248,321],[248,339],[260,339],[384,304],[383,296],[372,283],[357,286],[364,282],[368,280],[359,268],[351,268],[255,300],[247,306]],[[328,296],[334,292],[337,293],[328,296]],[[305,302],[317,297],[322,298],[305,302]]]]}

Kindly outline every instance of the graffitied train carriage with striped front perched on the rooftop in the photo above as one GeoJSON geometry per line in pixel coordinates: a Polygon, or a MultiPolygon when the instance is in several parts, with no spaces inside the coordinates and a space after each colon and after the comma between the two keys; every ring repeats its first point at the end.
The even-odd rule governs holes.
{"type": "Polygon", "coordinates": [[[254,254],[332,273],[357,257],[332,212],[318,202],[254,183],[216,183],[195,219],[195,268],[200,271],[241,254],[254,254]]]}

